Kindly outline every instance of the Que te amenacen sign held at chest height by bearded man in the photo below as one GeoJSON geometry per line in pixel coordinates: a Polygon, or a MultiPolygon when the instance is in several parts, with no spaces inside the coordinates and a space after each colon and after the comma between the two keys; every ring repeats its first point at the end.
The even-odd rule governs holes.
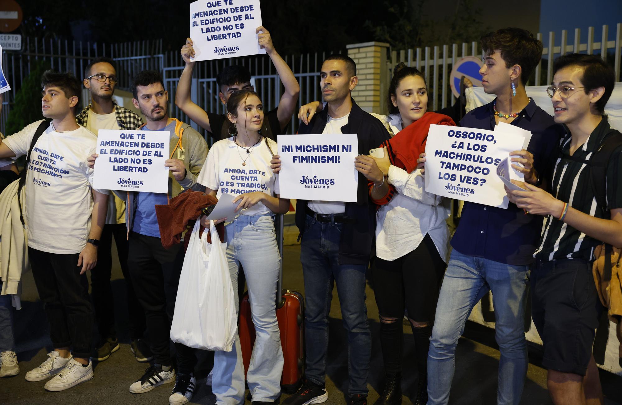
{"type": "Polygon", "coordinates": [[[100,129],[93,187],[167,193],[169,131],[100,129]]]}

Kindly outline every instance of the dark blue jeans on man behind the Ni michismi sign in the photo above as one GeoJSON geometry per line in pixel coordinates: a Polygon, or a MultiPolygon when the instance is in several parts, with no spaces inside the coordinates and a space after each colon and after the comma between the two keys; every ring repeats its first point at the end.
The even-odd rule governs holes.
{"type": "Polygon", "coordinates": [[[343,327],[348,332],[348,393],[366,394],[371,334],[365,306],[367,265],[340,265],[339,241],[343,224],[305,219],[300,245],[300,262],[305,283],[305,339],[307,341],[306,378],[323,385],[328,348],[328,314],[333,284],[341,306],[343,327]]]}

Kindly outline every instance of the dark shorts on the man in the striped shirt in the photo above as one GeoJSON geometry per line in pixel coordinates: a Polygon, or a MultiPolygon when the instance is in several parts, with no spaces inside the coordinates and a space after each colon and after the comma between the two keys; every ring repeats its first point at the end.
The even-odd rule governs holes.
{"type": "Polygon", "coordinates": [[[592,263],[537,260],[530,279],[532,319],[544,345],[542,365],[584,376],[601,311],[592,263]]]}

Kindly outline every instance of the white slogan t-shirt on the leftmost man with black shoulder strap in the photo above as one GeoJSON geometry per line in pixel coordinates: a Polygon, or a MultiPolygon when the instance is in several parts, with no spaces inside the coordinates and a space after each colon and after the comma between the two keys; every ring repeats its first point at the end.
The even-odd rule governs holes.
{"type": "MultiPolygon", "coordinates": [[[[2,141],[16,155],[26,155],[41,121],[27,125],[2,141]]],[[[97,138],[85,127],[45,130],[32,150],[26,172],[29,247],[68,255],[80,253],[91,229],[93,170],[86,159],[95,153],[97,138]]]]}

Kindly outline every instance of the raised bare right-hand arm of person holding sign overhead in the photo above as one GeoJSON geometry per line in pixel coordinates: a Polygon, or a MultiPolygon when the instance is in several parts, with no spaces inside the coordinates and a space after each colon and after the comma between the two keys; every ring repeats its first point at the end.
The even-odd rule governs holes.
{"type": "Polygon", "coordinates": [[[300,85],[294,77],[294,72],[274,49],[268,30],[260,25],[257,27],[256,32],[258,33],[259,46],[266,49],[266,53],[272,60],[272,63],[274,63],[274,67],[281,78],[281,83],[285,86],[285,93],[281,96],[279,108],[277,109],[279,124],[281,124],[281,129],[284,129],[287,122],[292,118],[292,114],[294,114],[298,94],[300,93],[300,85]],[[259,34],[259,31],[261,31],[261,34],[259,34]]]}

